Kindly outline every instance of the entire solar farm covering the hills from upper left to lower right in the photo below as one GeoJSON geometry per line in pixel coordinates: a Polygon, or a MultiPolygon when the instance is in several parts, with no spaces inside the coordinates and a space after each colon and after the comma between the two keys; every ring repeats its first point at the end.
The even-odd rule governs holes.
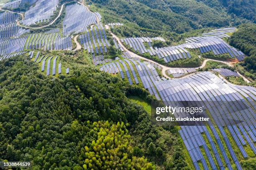
{"type": "Polygon", "coordinates": [[[229,38],[227,33],[235,32],[236,28],[215,29],[198,37],[186,38],[185,43],[180,45],[154,47],[154,41],[166,40],[163,37],[122,37],[120,41],[115,36],[109,38],[112,32],[107,29],[108,26],[115,28],[125,25],[108,23],[105,26],[98,22],[102,18],[100,13],[92,13],[80,3],[65,5],[64,19],[58,28],[50,27],[39,32],[20,27],[17,20],[23,26],[51,22],[61,5],[60,0],[14,0],[5,3],[3,8],[17,9],[23,3],[31,5],[24,13],[24,20],[17,13],[0,13],[0,61],[26,54],[38,64],[43,75],[72,75],[69,66],[62,62],[61,55],[51,52],[77,52],[74,50],[76,35],[82,46],[81,51],[86,52],[102,74],[109,73],[131,86],[143,87],[166,106],[175,107],[180,101],[203,103],[207,115],[211,117],[210,121],[207,124],[182,125],[179,130],[184,148],[196,170],[233,170],[234,167],[242,170],[240,160],[255,157],[256,88],[232,85],[218,77],[218,74],[224,77],[239,76],[239,72],[224,68],[207,72],[197,72],[195,68],[172,68],[166,70],[167,75],[173,77],[167,80],[163,74],[159,75],[162,65],[146,61],[146,57],[145,60],[136,57],[148,54],[169,63],[189,60],[192,58],[192,51],[197,50],[201,54],[228,54],[233,59],[242,61],[246,55],[223,40],[229,38]],[[112,58],[108,55],[110,42],[117,53],[112,58]],[[136,55],[131,55],[132,52],[136,55]],[[187,76],[182,78],[184,75],[187,76]]]}

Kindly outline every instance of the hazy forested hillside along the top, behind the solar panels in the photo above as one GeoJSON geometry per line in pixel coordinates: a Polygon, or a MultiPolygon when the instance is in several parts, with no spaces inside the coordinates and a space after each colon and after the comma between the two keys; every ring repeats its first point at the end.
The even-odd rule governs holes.
{"type": "MultiPolygon", "coordinates": [[[[183,33],[202,27],[225,27],[242,22],[225,10],[216,10],[195,0],[90,0],[121,19],[142,28],[183,33]]],[[[108,22],[108,18],[105,18],[108,22]]]]}

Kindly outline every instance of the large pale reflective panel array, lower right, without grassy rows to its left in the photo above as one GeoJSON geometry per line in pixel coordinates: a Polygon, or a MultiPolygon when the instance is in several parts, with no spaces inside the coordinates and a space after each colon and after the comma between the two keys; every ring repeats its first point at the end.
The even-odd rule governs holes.
{"type": "MultiPolygon", "coordinates": [[[[217,124],[218,130],[220,130],[222,137],[219,136],[215,126],[209,121],[208,125],[214,136],[214,138],[212,138],[210,131],[207,130],[205,126],[181,126],[179,133],[196,170],[200,170],[198,161],[201,161],[204,169],[217,169],[216,166],[218,166],[221,170],[224,170],[225,168],[232,170],[233,168],[231,167],[226,152],[230,153],[236,168],[238,170],[242,169],[233,150],[234,146],[230,144],[227,133],[223,129],[223,121],[227,120],[227,118],[228,120],[243,120],[243,122],[238,124],[227,125],[228,132],[230,132],[230,135],[237,145],[236,147],[239,148],[243,157],[248,157],[243,148],[245,145],[248,145],[254,154],[256,153],[253,144],[253,142],[256,141],[255,124],[253,124],[256,118],[255,113],[253,112],[256,98],[255,88],[225,84],[223,80],[211,72],[201,72],[179,80],[157,81],[156,88],[166,105],[172,103],[169,101],[203,101],[205,107],[207,107],[213,120],[217,124]],[[243,97],[248,101],[251,101],[250,104],[252,105],[246,102],[243,97]],[[215,101],[215,105],[212,104],[212,101],[215,101]],[[210,148],[206,145],[206,141],[202,138],[201,133],[205,133],[207,140],[210,143],[210,148]],[[223,138],[224,143],[220,138],[223,138]],[[248,144],[246,144],[244,139],[246,139],[248,144]],[[214,140],[217,142],[217,145],[215,145],[214,140]],[[224,149],[224,145],[227,146],[228,150],[224,149]],[[199,147],[203,148],[206,157],[202,155],[202,151],[199,147]],[[216,148],[220,149],[224,162],[220,159],[220,155],[216,148]],[[210,150],[212,150],[212,155],[210,154],[210,150]],[[217,160],[217,165],[213,161],[213,157],[217,160]],[[207,166],[205,158],[208,159],[211,167],[207,166]]],[[[175,106],[173,105],[172,107],[175,106]]]]}

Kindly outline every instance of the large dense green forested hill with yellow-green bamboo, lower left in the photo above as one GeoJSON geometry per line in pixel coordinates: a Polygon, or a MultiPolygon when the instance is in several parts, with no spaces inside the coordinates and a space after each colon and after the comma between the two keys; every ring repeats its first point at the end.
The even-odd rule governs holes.
{"type": "Polygon", "coordinates": [[[143,107],[125,97],[151,101],[146,90],[99,72],[80,53],[76,59],[66,54],[77,63],[74,74],[55,79],[24,57],[0,62],[0,161],[32,161],[46,170],[154,169],[151,161],[188,166],[177,129],[153,127],[143,107]]]}

